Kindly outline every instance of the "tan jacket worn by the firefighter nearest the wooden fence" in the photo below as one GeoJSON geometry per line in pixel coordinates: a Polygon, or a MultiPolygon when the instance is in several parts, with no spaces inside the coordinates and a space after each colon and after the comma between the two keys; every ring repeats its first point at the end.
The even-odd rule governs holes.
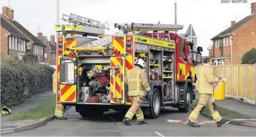
{"type": "Polygon", "coordinates": [[[218,82],[219,78],[214,77],[212,69],[209,64],[203,64],[199,68],[197,77],[197,86],[199,94],[214,94],[214,83],[218,82]]]}

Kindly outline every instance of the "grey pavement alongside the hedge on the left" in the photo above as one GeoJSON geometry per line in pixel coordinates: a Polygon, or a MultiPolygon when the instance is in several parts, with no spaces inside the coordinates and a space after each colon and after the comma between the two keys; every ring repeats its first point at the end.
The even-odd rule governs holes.
{"type": "Polygon", "coordinates": [[[15,107],[10,107],[11,113],[8,115],[1,116],[1,129],[8,129],[13,127],[19,127],[30,123],[38,122],[39,120],[15,120],[12,121],[10,119],[13,118],[14,115],[20,114],[24,111],[28,111],[29,108],[33,108],[36,105],[42,104],[54,96],[52,91],[45,91],[36,95],[33,95],[32,98],[27,99],[26,102],[23,102],[20,105],[15,107]]]}

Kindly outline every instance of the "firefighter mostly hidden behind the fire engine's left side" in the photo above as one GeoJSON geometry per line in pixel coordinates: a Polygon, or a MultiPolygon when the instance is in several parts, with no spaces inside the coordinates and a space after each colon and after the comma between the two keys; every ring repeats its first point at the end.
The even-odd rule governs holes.
{"type": "MultiPolygon", "coordinates": [[[[56,94],[57,87],[56,87],[56,82],[57,82],[57,70],[54,71],[53,73],[53,94],[56,94]]],[[[59,120],[66,120],[66,117],[63,117],[64,114],[64,105],[56,103],[56,108],[55,108],[55,118],[59,120]]]]}

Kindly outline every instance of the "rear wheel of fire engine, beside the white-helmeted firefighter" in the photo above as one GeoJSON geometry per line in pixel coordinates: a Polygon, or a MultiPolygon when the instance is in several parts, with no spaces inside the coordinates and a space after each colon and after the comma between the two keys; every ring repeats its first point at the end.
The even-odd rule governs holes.
{"type": "Polygon", "coordinates": [[[154,88],[153,92],[150,96],[150,117],[153,119],[157,119],[161,110],[161,96],[159,94],[159,90],[154,88]]]}

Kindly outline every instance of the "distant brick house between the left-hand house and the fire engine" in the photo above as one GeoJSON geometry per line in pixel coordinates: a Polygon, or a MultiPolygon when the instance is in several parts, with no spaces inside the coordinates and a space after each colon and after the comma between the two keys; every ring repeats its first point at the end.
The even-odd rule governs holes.
{"type": "Polygon", "coordinates": [[[44,63],[56,67],[56,42],[54,37],[54,35],[51,35],[51,39],[48,41],[47,36],[42,36],[42,32],[38,32],[38,36],[36,38],[45,45],[44,63]]]}

